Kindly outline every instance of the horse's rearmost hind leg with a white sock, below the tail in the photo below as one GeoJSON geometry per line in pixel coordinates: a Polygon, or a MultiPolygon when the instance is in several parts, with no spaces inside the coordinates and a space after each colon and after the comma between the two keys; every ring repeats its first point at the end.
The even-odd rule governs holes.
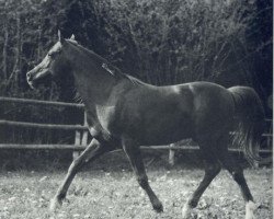
{"type": "Polygon", "coordinates": [[[222,149],[219,152],[219,160],[222,163],[224,168],[226,168],[229,173],[232,175],[233,180],[237,182],[237,184],[240,186],[241,194],[243,196],[243,199],[246,201],[246,219],[254,219],[254,210],[255,210],[255,204],[253,201],[253,197],[250,193],[249,186],[247,184],[247,181],[243,176],[243,170],[239,165],[239,163],[236,162],[236,160],[232,158],[231,154],[229,154],[227,149],[222,149]]]}

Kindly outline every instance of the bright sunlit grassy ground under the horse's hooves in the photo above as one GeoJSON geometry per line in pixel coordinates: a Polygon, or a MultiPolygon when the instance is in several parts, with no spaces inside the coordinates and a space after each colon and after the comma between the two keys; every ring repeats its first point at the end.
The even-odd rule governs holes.
{"type": "MultiPolygon", "coordinates": [[[[105,161],[104,161],[105,162],[105,161]]],[[[107,163],[107,162],[105,162],[107,163]]],[[[55,215],[48,212],[49,199],[65,176],[61,170],[2,170],[0,174],[0,218],[181,218],[181,209],[203,176],[198,168],[172,168],[153,162],[148,166],[151,187],[163,204],[164,212],[156,214],[147,195],[139,188],[127,163],[85,169],[75,178],[68,201],[55,215]],[[107,168],[109,166],[109,168],[107,168]]],[[[271,219],[272,169],[246,170],[246,177],[260,207],[259,219],[271,219]]],[[[193,217],[243,218],[244,204],[230,175],[222,171],[202,197],[193,217]]]]}

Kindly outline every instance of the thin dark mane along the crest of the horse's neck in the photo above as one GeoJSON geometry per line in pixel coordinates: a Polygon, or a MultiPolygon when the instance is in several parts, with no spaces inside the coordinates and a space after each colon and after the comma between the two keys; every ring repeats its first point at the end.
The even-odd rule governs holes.
{"type": "Polygon", "coordinates": [[[95,60],[101,65],[101,67],[104,68],[107,72],[110,72],[112,76],[128,79],[134,84],[146,84],[145,82],[140,81],[139,79],[136,79],[127,73],[123,73],[119,68],[112,65],[111,62],[109,62],[106,59],[99,56],[94,51],[92,51],[88,48],[84,48],[83,46],[78,44],[77,41],[73,41],[73,39],[66,39],[66,41],[70,44],[77,46],[78,48],[80,48],[82,51],[84,51],[87,54],[87,56],[89,56],[93,59],[95,58],[95,60]]]}

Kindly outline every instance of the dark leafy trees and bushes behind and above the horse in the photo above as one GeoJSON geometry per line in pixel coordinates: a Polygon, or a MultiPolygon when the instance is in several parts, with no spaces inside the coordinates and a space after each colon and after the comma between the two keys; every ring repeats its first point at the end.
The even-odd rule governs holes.
{"type": "MultiPolygon", "coordinates": [[[[37,95],[27,92],[25,72],[56,41],[57,28],[67,37],[73,33],[124,71],[155,84],[209,80],[254,85],[258,72],[247,57],[272,41],[264,34],[250,45],[252,36],[263,32],[254,22],[258,14],[271,14],[272,4],[260,5],[260,0],[2,0],[0,4],[0,76],[5,95],[22,91],[37,95]]],[[[56,99],[58,91],[39,95],[56,99]]]]}

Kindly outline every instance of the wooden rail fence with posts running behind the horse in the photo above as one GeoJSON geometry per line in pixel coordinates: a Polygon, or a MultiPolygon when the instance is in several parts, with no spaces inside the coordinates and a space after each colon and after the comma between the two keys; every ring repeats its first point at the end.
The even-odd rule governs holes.
{"type": "MultiPolygon", "coordinates": [[[[60,106],[60,107],[77,107],[83,110],[83,104],[76,103],[64,103],[64,102],[50,102],[50,101],[38,101],[38,100],[27,100],[27,99],[14,99],[14,97],[1,97],[0,103],[20,103],[20,104],[32,104],[42,106],[60,106]]],[[[83,150],[88,145],[88,126],[87,126],[87,114],[83,113],[83,123],[81,125],[58,125],[58,124],[38,124],[38,123],[25,123],[25,122],[14,122],[0,119],[0,126],[13,126],[22,128],[42,128],[42,129],[61,129],[61,130],[75,130],[75,145],[31,145],[31,143],[1,143],[0,149],[71,149],[73,150],[73,158],[78,157],[80,151],[83,150]]],[[[271,123],[271,129],[267,134],[263,134],[266,138],[267,147],[266,149],[260,149],[260,153],[272,153],[272,120],[266,119],[271,123]]],[[[169,151],[169,162],[174,164],[175,150],[197,150],[197,146],[179,146],[171,143],[169,146],[150,146],[141,147],[141,149],[157,149],[157,150],[168,150],[169,151]]],[[[231,152],[239,152],[240,149],[229,148],[231,152]]]]}

